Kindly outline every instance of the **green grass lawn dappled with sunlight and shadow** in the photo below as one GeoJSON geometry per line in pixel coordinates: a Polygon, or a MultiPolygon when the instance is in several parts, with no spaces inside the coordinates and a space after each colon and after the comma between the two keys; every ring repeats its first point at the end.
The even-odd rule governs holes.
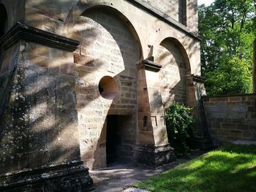
{"type": "Polygon", "coordinates": [[[135,187],[149,191],[256,191],[256,145],[226,145],[135,187]]]}

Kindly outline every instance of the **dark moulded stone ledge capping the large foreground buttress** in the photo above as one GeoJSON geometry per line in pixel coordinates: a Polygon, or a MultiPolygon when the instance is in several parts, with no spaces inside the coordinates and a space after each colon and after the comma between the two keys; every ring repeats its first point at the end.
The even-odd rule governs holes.
{"type": "Polygon", "coordinates": [[[20,22],[13,26],[4,37],[1,37],[0,45],[4,47],[4,50],[7,50],[15,45],[20,39],[25,39],[29,42],[37,42],[42,45],[60,50],[67,50],[69,52],[76,50],[79,45],[79,42],[76,40],[27,26],[25,23],[20,22]]]}

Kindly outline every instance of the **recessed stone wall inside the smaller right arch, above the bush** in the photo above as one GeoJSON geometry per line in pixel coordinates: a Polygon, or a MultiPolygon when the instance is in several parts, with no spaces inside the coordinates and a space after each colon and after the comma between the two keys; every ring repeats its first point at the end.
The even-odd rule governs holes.
{"type": "Polygon", "coordinates": [[[191,69],[181,42],[173,37],[162,40],[157,47],[155,61],[162,65],[159,79],[164,107],[169,107],[173,101],[187,104],[187,75],[191,74],[191,69]]]}

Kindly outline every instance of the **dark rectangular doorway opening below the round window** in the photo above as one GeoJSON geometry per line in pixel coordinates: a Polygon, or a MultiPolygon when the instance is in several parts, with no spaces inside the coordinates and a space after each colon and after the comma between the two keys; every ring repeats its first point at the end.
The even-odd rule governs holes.
{"type": "Polygon", "coordinates": [[[129,115],[108,115],[106,134],[107,165],[132,161],[135,120],[129,115]]]}

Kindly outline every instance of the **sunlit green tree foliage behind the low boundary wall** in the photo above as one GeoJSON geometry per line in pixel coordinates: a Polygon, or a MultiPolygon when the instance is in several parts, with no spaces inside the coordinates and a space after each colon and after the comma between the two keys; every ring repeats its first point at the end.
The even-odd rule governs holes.
{"type": "Polygon", "coordinates": [[[208,95],[252,92],[255,0],[199,7],[202,73],[208,95]]]}

